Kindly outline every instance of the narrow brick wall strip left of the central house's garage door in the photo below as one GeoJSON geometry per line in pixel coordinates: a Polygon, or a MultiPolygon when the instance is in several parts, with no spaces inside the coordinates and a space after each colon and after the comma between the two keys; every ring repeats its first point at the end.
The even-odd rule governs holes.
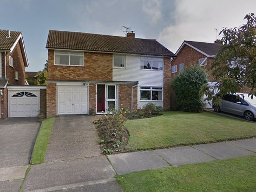
{"type": "Polygon", "coordinates": [[[55,116],[57,112],[56,83],[47,83],[47,117],[55,116]]]}

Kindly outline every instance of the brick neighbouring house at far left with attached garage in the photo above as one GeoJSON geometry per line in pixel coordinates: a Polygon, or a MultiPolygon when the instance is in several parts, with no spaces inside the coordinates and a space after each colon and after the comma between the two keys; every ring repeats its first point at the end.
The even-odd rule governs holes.
{"type": "MultiPolygon", "coordinates": [[[[28,87],[25,80],[29,63],[21,32],[0,30],[0,58],[0,118],[37,116],[38,111],[45,111],[40,87],[28,87]]],[[[43,97],[45,88],[41,88],[43,97]]]]}

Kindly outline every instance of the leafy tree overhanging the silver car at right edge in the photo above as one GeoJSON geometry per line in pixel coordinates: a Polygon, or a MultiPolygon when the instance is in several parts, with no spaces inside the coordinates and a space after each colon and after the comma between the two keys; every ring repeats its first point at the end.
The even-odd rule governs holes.
{"type": "MultiPolygon", "coordinates": [[[[248,14],[247,22],[239,28],[224,28],[220,32],[222,46],[212,63],[212,74],[218,83],[215,89],[219,90],[219,98],[213,103],[219,103],[220,98],[227,92],[235,93],[249,89],[249,95],[256,95],[256,17],[248,14]]],[[[205,84],[201,95],[208,95],[212,100],[213,91],[205,84]]]]}

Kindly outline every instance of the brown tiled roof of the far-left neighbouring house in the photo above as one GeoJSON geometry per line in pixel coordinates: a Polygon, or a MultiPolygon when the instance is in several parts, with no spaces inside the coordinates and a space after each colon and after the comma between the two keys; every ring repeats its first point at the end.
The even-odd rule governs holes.
{"type": "Polygon", "coordinates": [[[21,35],[19,31],[10,31],[10,37],[8,37],[8,30],[0,30],[0,50],[11,50],[19,35],[21,35]]]}

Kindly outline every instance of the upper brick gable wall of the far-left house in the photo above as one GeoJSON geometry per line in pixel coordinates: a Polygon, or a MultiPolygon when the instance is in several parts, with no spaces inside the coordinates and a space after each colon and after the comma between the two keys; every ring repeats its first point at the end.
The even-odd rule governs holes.
{"type": "MultiPolygon", "coordinates": [[[[4,69],[2,71],[4,76],[4,69]]],[[[8,54],[6,54],[6,77],[9,79],[9,84],[26,85],[25,65],[19,43],[17,43],[15,49],[11,53],[8,52],[8,54]],[[9,65],[9,56],[14,60],[14,67],[9,65]],[[18,80],[15,80],[15,71],[18,71],[18,80]]]]}

